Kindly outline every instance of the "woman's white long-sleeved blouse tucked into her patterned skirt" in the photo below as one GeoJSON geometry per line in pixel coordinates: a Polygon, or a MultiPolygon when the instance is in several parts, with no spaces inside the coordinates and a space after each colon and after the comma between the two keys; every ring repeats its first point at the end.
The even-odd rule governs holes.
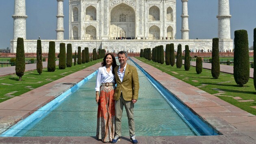
{"type": "Polygon", "coordinates": [[[106,66],[98,69],[95,91],[100,91],[100,85],[102,83],[115,83],[115,75],[112,73],[112,66],[109,73],[106,71],[106,66]]]}

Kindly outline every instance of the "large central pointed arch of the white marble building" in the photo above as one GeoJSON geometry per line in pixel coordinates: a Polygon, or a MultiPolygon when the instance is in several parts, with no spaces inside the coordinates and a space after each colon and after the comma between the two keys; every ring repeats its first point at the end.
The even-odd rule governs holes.
{"type": "Polygon", "coordinates": [[[110,13],[110,38],[133,37],[136,35],[135,10],[128,4],[118,4],[111,9],[110,13]]]}

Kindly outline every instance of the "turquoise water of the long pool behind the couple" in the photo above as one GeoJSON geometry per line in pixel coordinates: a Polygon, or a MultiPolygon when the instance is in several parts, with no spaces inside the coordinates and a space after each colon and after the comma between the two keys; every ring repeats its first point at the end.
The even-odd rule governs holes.
{"type": "MultiPolygon", "coordinates": [[[[134,65],[130,61],[128,63],[134,65]]],[[[140,90],[135,104],[136,135],[195,136],[197,132],[192,131],[139,69],[138,74],[140,90]]],[[[93,76],[43,119],[34,121],[16,136],[95,136],[98,108],[95,103],[95,79],[96,76],[93,76]]],[[[122,135],[129,136],[125,110],[122,135]]]]}

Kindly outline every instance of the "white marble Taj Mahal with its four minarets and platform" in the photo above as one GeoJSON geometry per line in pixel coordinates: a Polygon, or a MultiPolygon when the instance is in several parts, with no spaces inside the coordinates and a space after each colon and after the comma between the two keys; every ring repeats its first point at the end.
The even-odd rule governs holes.
{"type": "MultiPolygon", "coordinates": [[[[17,38],[24,39],[25,53],[36,53],[37,40],[26,39],[26,0],[15,0],[13,17],[13,40],[11,53],[16,53],[17,38]]],[[[64,40],[63,1],[57,2],[57,26],[55,40],[41,40],[42,52],[48,53],[49,41],[59,44],[105,49],[106,51],[140,52],[140,49],[174,43],[185,45],[193,51],[209,51],[212,39],[189,39],[188,1],[182,2],[181,39],[176,38],[176,0],[69,0],[69,40],[64,40]]],[[[218,0],[218,38],[220,51],[232,50],[230,38],[229,0],[218,0]]],[[[216,18],[215,18],[216,19],[216,18]]]]}

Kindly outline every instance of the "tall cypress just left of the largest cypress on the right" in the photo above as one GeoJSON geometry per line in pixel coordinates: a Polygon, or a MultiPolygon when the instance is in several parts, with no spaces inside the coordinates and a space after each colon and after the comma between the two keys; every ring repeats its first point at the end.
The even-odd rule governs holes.
{"type": "Polygon", "coordinates": [[[211,73],[213,78],[219,78],[220,66],[219,66],[219,38],[213,38],[212,48],[212,69],[211,73]]]}

